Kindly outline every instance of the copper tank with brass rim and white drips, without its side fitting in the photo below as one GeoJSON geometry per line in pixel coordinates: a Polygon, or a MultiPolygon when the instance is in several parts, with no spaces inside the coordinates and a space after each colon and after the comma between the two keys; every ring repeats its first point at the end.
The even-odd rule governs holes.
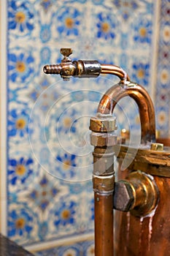
{"type": "MultiPolygon", "coordinates": [[[[121,165],[124,149],[118,156],[121,165]]],[[[135,217],[130,212],[115,211],[116,256],[167,256],[170,252],[170,148],[150,152],[139,150],[128,169],[119,171],[118,178],[127,178],[132,170],[152,173],[159,190],[155,211],[147,217],[135,217]],[[152,156],[150,156],[152,154],[152,156]],[[169,157],[169,159],[168,159],[169,157]]]]}

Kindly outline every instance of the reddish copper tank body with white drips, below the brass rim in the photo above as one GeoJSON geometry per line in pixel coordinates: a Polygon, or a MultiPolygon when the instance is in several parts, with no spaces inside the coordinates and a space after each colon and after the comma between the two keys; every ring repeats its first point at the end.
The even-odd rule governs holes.
{"type": "MultiPolygon", "coordinates": [[[[128,176],[119,172],[118,178],[128,176]]],[[[170,178],[154,176],[160,192],[158,207],[148,217],[115,211],[116,256],[167,256],[170,252],[170,178]]]]}

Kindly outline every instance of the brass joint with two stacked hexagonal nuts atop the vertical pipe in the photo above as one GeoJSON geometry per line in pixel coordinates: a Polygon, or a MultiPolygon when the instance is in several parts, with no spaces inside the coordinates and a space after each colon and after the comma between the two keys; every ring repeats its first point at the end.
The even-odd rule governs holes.
{"type": "Polygon", "coordinates": [[[93,174],[109,176],[114,173],[114,146],[117,144],[115,135],[116,119],[112,116],[90,118],[90,143],[93,151],[93,174]]]}

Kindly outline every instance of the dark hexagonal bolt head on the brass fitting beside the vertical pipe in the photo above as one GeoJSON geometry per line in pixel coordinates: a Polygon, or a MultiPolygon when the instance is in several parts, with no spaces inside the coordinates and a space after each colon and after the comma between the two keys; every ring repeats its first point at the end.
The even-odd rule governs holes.
{"type": "Polygon", "coordinates": [[[118,211],[130,211],[134,204],[134,192],[128,181],[117,181],[113,205],[118,211]]]}

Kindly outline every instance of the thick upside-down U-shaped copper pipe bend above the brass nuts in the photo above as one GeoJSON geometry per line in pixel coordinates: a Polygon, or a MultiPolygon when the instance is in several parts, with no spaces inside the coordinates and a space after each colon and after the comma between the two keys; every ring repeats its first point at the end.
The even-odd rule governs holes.
{"type": "Polygon", "coordinates": [[[131,97],[139,107],[139,116],[142,127],[142,143],[155,142],[155,110],[147,91],[137,83],[117,83],[112,86],[101,98],[98,113],[112,114],[117,102],[123,97],[131,97]]]}

